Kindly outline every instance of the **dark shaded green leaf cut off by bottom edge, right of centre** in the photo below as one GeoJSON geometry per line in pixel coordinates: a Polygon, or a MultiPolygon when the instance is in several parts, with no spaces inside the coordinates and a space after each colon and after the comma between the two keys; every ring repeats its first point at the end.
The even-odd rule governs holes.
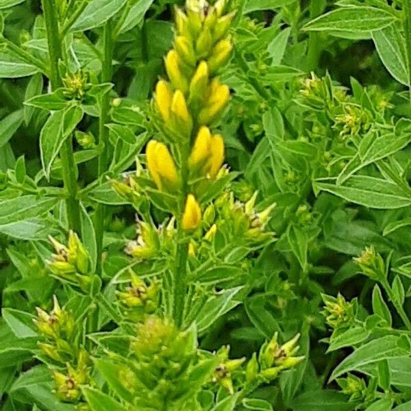
{"type": "Polygon", "coordinates": [[[290,403],[293,411],[351,411],[355,403],[348,401],[347,395],[334,390],[308,391],[290,403]]]}

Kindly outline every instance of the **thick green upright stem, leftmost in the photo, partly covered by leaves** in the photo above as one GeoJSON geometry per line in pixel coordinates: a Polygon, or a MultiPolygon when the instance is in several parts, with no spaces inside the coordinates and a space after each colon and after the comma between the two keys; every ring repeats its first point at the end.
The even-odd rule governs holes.
{"type": "MultiPolygon", "coordinates": [[[[53,0],[42,0],[42,9],[45,15],[45,24],[47,32],[47,42],[49,45],[50,55],[50,83],[51,88],[55,90],[62,86],[62,79],[58,70],[58,64],[62,58],[62,46],[60,42],[59,24],[57,8],[53,0]]],[[[73,142],[71,136],[66,138],[60,151],[62,161],[62,174],[64,188],[68,193],[66,199],[67,216],[69,226],[75,232],[81,229],[80,208],[77,197],[77,177],[75,172],[75,160],[73,155],[73,142]]]]}

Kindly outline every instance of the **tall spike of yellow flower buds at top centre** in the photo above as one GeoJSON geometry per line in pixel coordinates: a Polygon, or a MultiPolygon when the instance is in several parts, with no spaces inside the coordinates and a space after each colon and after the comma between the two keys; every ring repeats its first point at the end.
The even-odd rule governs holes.
{"type": "Polygon", "coordinates": [[[210,126],[230,95],[216,77],[232,51],[228,32],[234,12],[226,8],[227,0],[214,5],[188,0],[184,10],[175,9],[174,47],[164,58],[168,79],[155,86],[155,108],[165,135],[164,142],[148,143],[147,168],[158,190],[184,199],[181,222],[188,231],[201,222],[199,191],[219,178],[224,161],[223,136],[213,134],[210,126]]]}

